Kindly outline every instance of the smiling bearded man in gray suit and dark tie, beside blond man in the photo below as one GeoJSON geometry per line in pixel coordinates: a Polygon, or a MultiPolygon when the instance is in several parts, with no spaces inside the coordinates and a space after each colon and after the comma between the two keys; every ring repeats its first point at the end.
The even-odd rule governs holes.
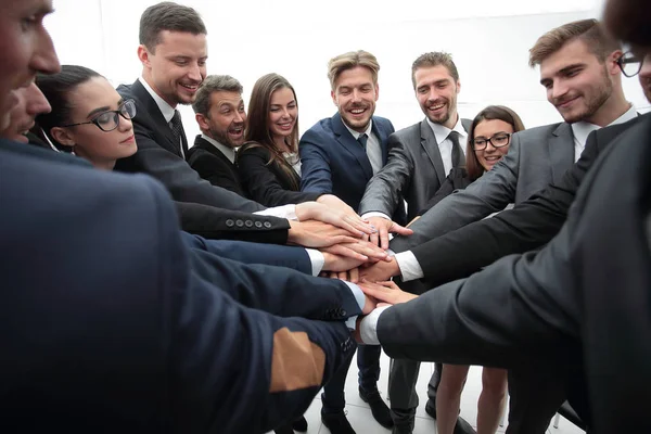
{"type": "MultiPolygon", "coordinates": [[[[416,98],[425,118],[388,137],[386,165],[369,181],[359,205],[359,214],[378,228],[386,229],[374,243],[388,246],[385,222],[391,221],[403,197],[407,201],[408,219],[436,193],[448,173],[465,164],[469,119],[457,113],[457,95],[461,90],[459,73],[448,53],[431,52],[419,56],[411,65],[411,81],[416,98]]],[[[418,406],[412,379],[418,376],[419,363],[411,360],[392,360],[388,395],[394,432],[410,433],[418,406]],[[404,366],[406,365],[406,366],[404,366]]],[[[434,399],[441,378],[441,367],[432,376],[430,395],[434,399]]],[[[436,417],[435,407],[425,408],[436,417]]],[[[459,418],[457,433],[474,433],[472,426],[459,418]]]]}

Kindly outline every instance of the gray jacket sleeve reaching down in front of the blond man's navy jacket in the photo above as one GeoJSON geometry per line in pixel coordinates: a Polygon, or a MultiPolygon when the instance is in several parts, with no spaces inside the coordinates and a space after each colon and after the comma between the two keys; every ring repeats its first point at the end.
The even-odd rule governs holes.
{"type": "Polygon", "coordinates": [[[393,133],[386,140],[386,164],[367,184],[359,204],[359,215],[380,212],[392,216],[410,188],[413,162],[405,143],[393,133]]]}

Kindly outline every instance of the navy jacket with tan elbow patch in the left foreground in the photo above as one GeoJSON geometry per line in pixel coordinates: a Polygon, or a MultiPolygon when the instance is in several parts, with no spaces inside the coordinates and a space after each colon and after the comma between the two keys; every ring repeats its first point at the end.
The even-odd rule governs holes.
{"type": "Polygon", "coordinates": [[[212,284],[157,182],[17,146],[0,140],[0,431],[263,433],[350,357],[321,321],[359,314],[343,282],[212,255],[239,282],[212,284]]]}

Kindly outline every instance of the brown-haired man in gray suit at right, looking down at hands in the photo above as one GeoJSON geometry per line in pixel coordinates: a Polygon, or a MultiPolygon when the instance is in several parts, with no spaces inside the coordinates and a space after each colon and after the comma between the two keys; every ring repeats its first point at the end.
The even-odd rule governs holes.
{"type": "MultiPolygon", "coordinates": [[[[580,156],[590,131],[635,117],[621,86],[616,62],[621,54],[618,44],[593,20],[569,23],[540,37],[531,50],[531,64],[540,65],[540,82],[565,123],[514,135],[509,153],[494,170],[425,213],[411,226],[413,235],[392,241],[392,250],[400,253],[387,266],[398,267],[406,280],[422,277],[420,264],[406,251],[558,183],[580,156]]],[[[535,433],[547,427],[548,420],[526,410],[547,400],[529,392],[531,381],[539,379],[536,371],[510,372],[509,432],[535,433]],[[536,405],[529,405],[529,399],[536,405]]]]}

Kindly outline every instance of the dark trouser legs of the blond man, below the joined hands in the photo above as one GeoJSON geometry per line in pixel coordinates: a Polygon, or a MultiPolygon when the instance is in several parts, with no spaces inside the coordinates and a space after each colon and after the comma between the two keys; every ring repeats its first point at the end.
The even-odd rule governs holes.
{"type": "MultiPolygon", "coordinates": [[[[357,368],[359,369],[359,378],[357,381],[365,392],[372,392],[378,388],[381,352],[382,347],[380,345],[359,345],[357,347],[357,368]]],[[[352,361],[353,357],[336,371],[323,387],[321,404],[323,405],[322,411],[324,413],[343,411],[346,406],[344,385],[352,361]]]]}

